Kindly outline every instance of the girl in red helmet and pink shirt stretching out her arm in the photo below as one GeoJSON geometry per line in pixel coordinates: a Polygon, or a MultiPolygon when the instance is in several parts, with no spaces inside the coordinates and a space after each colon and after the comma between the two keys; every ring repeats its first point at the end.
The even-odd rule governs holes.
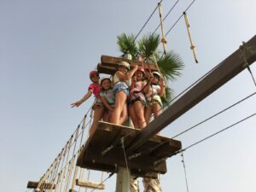
{"type": "Polygon", "coordinates": [[[102,115],[104,113],[104,108],[102,105],[102,101],[100,99],[101,85],[99,84],[99,73],[94,70],[90,72],[90,80],[92,84],[90,84],[87,93],[80,99],[78,102],[73,102],[71,107],[79,107],[83,102],[85,102],[92,94],[95,96],[95,102],[92,105],[92,109],[94,110],[93,123],[90,126],[89,136],[92,136],[94,131],[96,130],[97,122],[102,119],[102,115]]]}

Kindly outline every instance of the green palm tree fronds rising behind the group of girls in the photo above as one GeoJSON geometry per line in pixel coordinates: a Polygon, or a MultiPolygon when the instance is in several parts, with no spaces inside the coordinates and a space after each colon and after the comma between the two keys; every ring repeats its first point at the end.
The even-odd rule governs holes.
{"type": "MultiPolygon", "coordinates": [[[[160,73],[166,81],[173,81],[181,76],[181,70],[183,69],[181,57],[172,50],[166,52],[166,55],[162,54],[158,50],[160,45],[160,36],[158,34],[144,35],[136,44],[133,35],[123,33],[118,36],[118,45],[121,53],[124,55],[131,54],[133,60],[137,59],[138,53],[143,55],[144,58],[148,58],[148,61],[154,62],[155,59],[160,68],[160,73]]],[[[164,108],[168,107],[172,97],[173,90],[166,87],[166,96],[162,97],[164,108]]]]}

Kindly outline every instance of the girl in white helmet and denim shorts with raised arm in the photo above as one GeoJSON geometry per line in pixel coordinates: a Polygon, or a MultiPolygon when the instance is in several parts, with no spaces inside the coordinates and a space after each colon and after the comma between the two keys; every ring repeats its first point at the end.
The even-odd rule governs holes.
{"type": "Polygon", "coordinates": [[[129,86],[127,81],[131,79],[137,71],[137,66],[130,70],[130,64],[125,61],[119,63],[119,70],[113,76],[113,94],[115,95],[115,108],[113,109],[112,123],[122,125],[127,119],[126,100],[129,96],[129,86]]]}

